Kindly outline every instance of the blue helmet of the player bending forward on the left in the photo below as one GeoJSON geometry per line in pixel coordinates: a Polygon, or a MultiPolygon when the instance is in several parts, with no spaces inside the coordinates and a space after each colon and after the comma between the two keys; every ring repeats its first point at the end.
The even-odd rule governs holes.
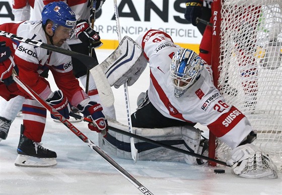
{"type": "Polygon", "coordinates": [[[53,32],[57,26],[75,29],[77,24],[76,14],[64,2],[52,2],[47,4],[43,8],[41,16],[43,25],[46,24],[47,20],[53,22],[53,32]]]}

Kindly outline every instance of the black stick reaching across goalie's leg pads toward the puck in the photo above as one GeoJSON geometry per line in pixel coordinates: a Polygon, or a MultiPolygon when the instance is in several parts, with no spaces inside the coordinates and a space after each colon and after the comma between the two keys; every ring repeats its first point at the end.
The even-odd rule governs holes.
{"type": "MultiPolygon", "coordinates": [[[[92,122],[92,120],[90,118],[86,118],[86,117],[83,117],[83,116],[75,114],[75,113],[69,113],[69,115],[73,116],[74,118],[82,119],[86,122],[92,122]]],[[[173,147],[173,146],[170,146],[170,145],[167,145],[167,144],[163,144],[161,142],[154,141],[154,140],[151,140],[149,138],[142,137],[142,136],[138,136],[136,134],[125,132],[125,131],[123,131],[119,128],[113,127],[113,126],[108,126],[108,128],[109,128],[109,130],[111,130],[113,132],[131,137],[131,138],[135,138],[135,139],[138,139],[138,140],[142,140],[144,142],[148,142],[148,143],[154,144],[156,146],[164,147],[164,148],[167,148],[167,149],[170,149],[170,150],[173,150],[173,151],[176,151],[176,152],[180,152],[180,153],[183,153],[183,154],[187,154],[187,155],[190,155],[190,156],[193,156],[193,157],[196,157],[196,158],[200,158],[200,159],[203,159],[203,160],[213,161],[213,162],[216,162],[216,163],[224,165],[224,166],[229,166],[229,165],[226,164],[226,162],[216,160],[214,158],[209,158],[209,157],[206,157],[206,156],[203,156],[203,155],[200,155],[200,154],[196,154],[196,153],[193,153],[193,152],[189,152],[187,150],[176,148],[176,147],[173,147]]],[[[231,167],[231,166],[229,166],[229,167],[231,167]]]]}

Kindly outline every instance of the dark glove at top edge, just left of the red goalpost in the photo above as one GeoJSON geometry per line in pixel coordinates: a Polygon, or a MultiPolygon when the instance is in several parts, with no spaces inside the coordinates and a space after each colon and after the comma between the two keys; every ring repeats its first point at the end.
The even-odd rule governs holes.
{"type": "Polygon", "coordinates": [[[200,0],[187,0],[186,10],[184,17],[192,25],[197,26],[196,18],[202,15],[202,1],[200,0]]]}

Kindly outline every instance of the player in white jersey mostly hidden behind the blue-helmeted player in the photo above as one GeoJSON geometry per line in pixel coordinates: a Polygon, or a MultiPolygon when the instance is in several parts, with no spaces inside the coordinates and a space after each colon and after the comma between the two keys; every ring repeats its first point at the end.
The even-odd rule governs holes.
{"type": "MultiPolygon", "coordinates": [[[[39,20],[41,17],[41,11],[43,7],[50,3],[50,2],[57,2],[58,0],[38,0],[34,2],[34,12],[32,19],[39,20]]],[[[90,15],[91,15],[91,7],[96,7],[96,13],[99,12],[105,2],[105,0],[97,0],[95,1],[96,4],[94,5],[93,0],[65,0],[63,1],[66,3],[72,11],[76,14],[77,18],[77,28],[75,31],[76,36],[70,37],[66,42],[69,45],[70,49],[73,51],[83,53],[89,55],[89,45],[92,42],[92,46],[97,48],[102,45],[100,41],[99,32],[96,32],[89,26],[90,22],[90,15]]],[[[74,74],[76,78],[79,78],[82,85],[86,87],[87,83],[87,68],[84,64],[81,63],[80,60],[72,57],[73,67],[74,67],[74,74]]],[[[89,86],[88,86],[88,95],[91,100],[96,102],[101,102],[99,97],[96,84],[92,75],[89,75],[89,86]]],[[[103,106],[103,105],[102,105],[103,106]]],[[[107,117],[116,119],[115,116],[115,108],[114,106],[103,106],[103,112],[107,117]]]]}

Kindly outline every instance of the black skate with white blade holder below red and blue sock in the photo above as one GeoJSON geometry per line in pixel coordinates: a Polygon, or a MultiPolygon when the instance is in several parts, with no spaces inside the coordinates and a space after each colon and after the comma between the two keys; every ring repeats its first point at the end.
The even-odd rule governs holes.
{"type": "Polygon", "coordinates": [[[57,164],[57,154],[41,146],[41,143],[34,142],[23,134],[21,135],[17,149],[18,157],[16,166],[22,167],[50,167],[57,164]]]}

